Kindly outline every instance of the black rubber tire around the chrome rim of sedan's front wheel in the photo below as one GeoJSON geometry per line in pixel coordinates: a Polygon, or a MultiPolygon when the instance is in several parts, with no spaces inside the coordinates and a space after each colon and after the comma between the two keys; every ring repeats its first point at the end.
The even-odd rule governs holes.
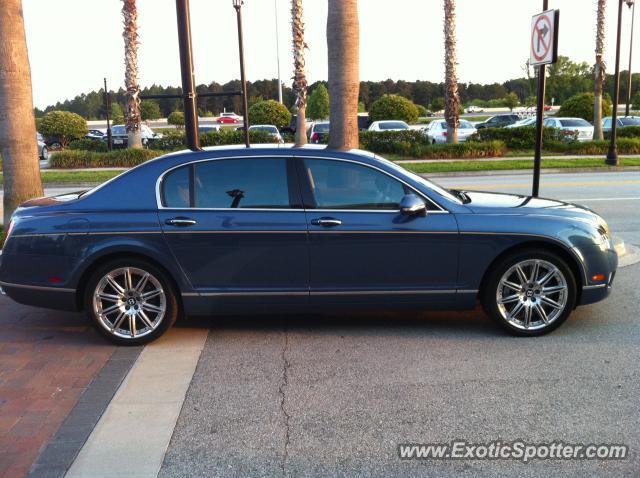
{"type": "MultiPolygon", "coordinates": [[[[532,273],[531,269],[529,269],[529,271],[530,271],[529,273],[532,273]]],[[[526,271],[525,271],[525,275],[527,275],[526,271]]],[[[555,280],[555,279],[552,279],[552,280],[555,280]]],[[[537,300],[539,304],[545,307],[548,307],[544,301],[540,300],[539,296],[535,296],[535,292],[537,292],[537,288],[532,287],[532,289],[535,289],[535,290],[532,290],[531,292],[532,294],[534,294],[533,298],[526,297],[526,295],[529,292],[526,292],[526,293],[522,292],[522,294],[525,297],[517,300],[516,305],[517,305],[517,302],[521,300],[525,303],[527,302],[527,300],[529,300],[530,302],[528,303],[533,304],[532,306],[535,309],[536,307],[540,307],[535,305],[535,302],[537,300]]],[[[507,290],[507,289],[504,289],[504,290],[507,290]]],[[[542,249],[526,249],[526,250],[514,252],[513,254],[509,254],[505,256],[491,268],[491,270],[488,272],[485,278],[482,290],[480,291],[480,301],[482,303],[482,307],[485,313],[491,319],[497,322],[500,326],[502,326],[505,330],[507,330],[509,333],[513,335],[522,336],[522,337],[533,337],[533,336],[547,334],[557,329],[560,325],[562,325],[562,323],[564,323],[565,320],[567,320],[567,318],[569,317],[569,315],[571,315],[571,312],[575,307],[576,296],[577,296],[576,291],[577,291],[576,278],[574,277],[574,274],[571,268],[567,265],[567,263],[561,257],[559,257],[557,254],[554,254],[552,252],[548,252],[542,249]],[[503,275],[506,274],[512,267],[515,267],[516,264],[520,264],[525,261],[535,261],[535,260],[545,261],[546,263],[550,263],[558,269],[559,273],[562,275],[562,278],[564,279],[564,284],[562,284],[561,282],[558,282],[558,285],[566,286],[566,289],[563,292],[563,294],[565,294],[566,302],[562,310],[557,314],[555,318],[553,318],[553,320],[549,321],[548,324],[545,324],[543,322],[541,315],[536,310],[535,312],[536,317],[539,319],[540,322],[543,322],[543,323],[537,326],[537,328],[528,329],[528,328],[522,328],[523,325],[521,326],[520,324],[517,324],[518,322],[517,317],[521,314],[518,314],[518,313],[515,314],[513,323],[507,320],[507,318],[503,315],[503,312],[500,310],[500,306],[498,305],[498,297],[499,297],[499,294],[501,294],[498,288],[500,287],[500,281],[503,275]]],[[[518,292],[515,292],[514,296],[517,294],[518,292]]],[[[554,294],[554,293],[551,293],[551,294],[554,294]]],[[[560,294],[560,292],[558,292],[558,294],[560,294]]],[[[552,295],[552,297],[559,297],[559,295],[558,296],[552,295]]],[[[515,308],[515,305],[513,307],[515,308]]],[[[550,310],[552,310],[555,313],[555,308],[552,308],[550,310]]]]}

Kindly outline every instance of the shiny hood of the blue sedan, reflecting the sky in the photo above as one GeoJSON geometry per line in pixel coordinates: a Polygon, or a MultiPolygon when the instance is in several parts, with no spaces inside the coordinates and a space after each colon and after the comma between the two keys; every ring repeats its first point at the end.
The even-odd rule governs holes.
{"type": "Polygon", "coordinates": [[[465,206],[477,214],[537,214],[593,222],[604,226],[604,221],[591,209],[555,199],[536,198],[518,194],[464,191],[469,201],[465,206]]]}

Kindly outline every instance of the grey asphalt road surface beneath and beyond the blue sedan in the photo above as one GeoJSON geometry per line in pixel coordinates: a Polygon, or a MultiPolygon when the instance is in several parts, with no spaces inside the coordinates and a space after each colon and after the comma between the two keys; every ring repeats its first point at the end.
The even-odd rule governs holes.
{"type": "MultiPolygon", "coordinates": [[[[441,178],[524,192],[526,176],[441,178]]],[[[640,174],[545,175],[638,244],[640,174]]],[[[159,476],[632,476],[640,469],[640,265],[544,337],[480,310],[191,320],[210,333],[159,476]],[[400,443],[627,444],[624,461],[418,460],[400,443]]]]}

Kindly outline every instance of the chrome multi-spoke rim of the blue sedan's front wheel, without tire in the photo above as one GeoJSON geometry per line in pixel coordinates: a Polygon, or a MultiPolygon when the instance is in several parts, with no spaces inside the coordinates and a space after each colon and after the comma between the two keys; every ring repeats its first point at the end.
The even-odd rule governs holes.
{"type": "Polygon", "coordinates": [[[565,310],[567,280],[551,262],[529,259],[516,263],[498,283],[496,302],[502,318],[523,330],[553,323],[565,310]]]}

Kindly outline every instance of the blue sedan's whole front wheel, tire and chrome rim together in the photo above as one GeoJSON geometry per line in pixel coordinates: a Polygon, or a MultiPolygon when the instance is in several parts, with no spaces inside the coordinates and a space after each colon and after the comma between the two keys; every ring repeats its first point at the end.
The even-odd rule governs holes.
{"type": "Polygon", "coordinates": [[[482,290],[488,316],[515,335],[543,335],[559,327],[576,301],[576,280],[556,254],[527,250],[505,257],[482,290]]]}

